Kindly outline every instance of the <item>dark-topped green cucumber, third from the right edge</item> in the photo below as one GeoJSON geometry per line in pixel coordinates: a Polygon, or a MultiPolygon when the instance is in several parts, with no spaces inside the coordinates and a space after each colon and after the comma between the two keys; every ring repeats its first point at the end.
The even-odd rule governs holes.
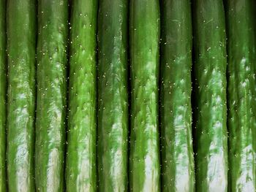
{"type": "Polygon", "coordinates": [[[161,8],[162,191],[194,191],[190,1],[164,0],[161,8]]]}

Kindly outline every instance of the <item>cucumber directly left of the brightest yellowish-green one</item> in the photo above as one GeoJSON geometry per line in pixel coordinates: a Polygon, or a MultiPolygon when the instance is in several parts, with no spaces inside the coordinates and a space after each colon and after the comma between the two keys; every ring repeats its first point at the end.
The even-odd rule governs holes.
{"type": "Polygon", "coordinates": [[[38,1],[37,191],[64,191],[67,19],[67,0],[38,1]]]}

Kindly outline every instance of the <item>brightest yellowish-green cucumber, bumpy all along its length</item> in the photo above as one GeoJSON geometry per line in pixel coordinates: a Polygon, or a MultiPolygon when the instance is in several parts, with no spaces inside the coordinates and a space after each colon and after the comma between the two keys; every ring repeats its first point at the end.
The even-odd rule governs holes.
{"type": "Polygon", "coordinates": [[[72,1],[69,42],[67,191],[96,191],[97,1],[72,1]]]}

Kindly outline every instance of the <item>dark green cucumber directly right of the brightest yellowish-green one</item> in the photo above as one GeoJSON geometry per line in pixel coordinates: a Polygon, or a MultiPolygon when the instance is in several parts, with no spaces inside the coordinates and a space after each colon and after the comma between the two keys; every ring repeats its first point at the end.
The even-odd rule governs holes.
{"type": "Polygon", "coordinates": [[[99,191],[127,191],[127,0],[99,0],[99,191]]]}

